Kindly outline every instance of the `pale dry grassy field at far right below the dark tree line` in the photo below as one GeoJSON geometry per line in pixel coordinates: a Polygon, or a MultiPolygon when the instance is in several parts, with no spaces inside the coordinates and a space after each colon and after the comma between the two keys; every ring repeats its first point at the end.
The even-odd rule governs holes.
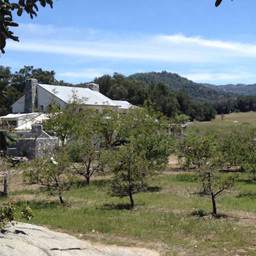
{"type": "Polygon", "coordinates": [[[187,130],[197,129],[202,132],[212,131],[227,131],[234,128],[244,129],[246,127],[256,128],[256,112],[246,113],[230,113],[225,114],[223,119],[221,115],[216,115],[216,118],[208,122],[192,122],[187,130]]]}

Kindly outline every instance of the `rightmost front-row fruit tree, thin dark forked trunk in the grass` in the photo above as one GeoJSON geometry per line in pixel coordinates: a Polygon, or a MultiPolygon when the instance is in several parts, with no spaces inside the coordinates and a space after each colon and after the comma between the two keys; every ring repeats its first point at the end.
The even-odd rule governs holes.
{"type": "Polygon", "coordinates": [[[199,137],[189,134],[181,143],[180,157],[186,167],[195,167],[197,181],[202,184],[204,193],[212,200],[212,213],[217,215],[216,198],[231,189],[238,174],[220,172],[227,166],[227,158],[220,151],[219,143],[212,136],[199,137]]]}

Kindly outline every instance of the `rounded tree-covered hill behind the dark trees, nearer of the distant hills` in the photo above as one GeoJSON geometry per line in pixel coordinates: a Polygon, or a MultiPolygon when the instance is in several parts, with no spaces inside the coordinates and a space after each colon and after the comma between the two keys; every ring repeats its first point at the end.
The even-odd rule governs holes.
{"type": "Polygon", "coordinates": [[[144,81],[146,84],[158,83],[160,81],[168,85],[171,90],[182,90],[187,92],[192,98],[198,100],[220,100],[233,96],[233,93],[224,92],[221,90],[215,90],[204,84],[198,84],[190,81],[184,77],[175,73],[162,72],[150,72],[150,73],[136,73],[128,76],[128,79],[144,81]]]}

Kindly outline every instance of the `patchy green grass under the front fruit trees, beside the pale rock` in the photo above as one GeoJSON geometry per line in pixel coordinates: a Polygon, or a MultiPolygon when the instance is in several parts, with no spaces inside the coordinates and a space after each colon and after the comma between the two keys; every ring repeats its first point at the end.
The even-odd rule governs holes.
{"type": "MultiPolygon", "coordinates": [[[[110,244],[143,245],[163,255],[256,256],[256,184],[247,182],[246,175],[235,192],[217,199],[220,218],[210,215],[211,201],[200,193],[192,173],[154,177],[148,181],[147,192],[134,195],[133,210],[128,198],[106,194],[108,183],[107,179],[92,180],[90,186],[71,189],[63,196],[66,205],[60,205],[58,198],[35,195],[28,203],[35,212],[30,223],[110,244]]],[[[32,196],[23,191],[18,209],[26,202],[26,193],[32,196]]]]}

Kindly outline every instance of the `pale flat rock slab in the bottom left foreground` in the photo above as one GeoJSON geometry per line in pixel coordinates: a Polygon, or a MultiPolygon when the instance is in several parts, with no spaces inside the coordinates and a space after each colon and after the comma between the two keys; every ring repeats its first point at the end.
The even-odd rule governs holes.
{"type": "Polygon", "coordinates": [[[157,256],[143,248],[100,246],[66,233],[15,223],[0,233],[0,256],[157,256]]]}

